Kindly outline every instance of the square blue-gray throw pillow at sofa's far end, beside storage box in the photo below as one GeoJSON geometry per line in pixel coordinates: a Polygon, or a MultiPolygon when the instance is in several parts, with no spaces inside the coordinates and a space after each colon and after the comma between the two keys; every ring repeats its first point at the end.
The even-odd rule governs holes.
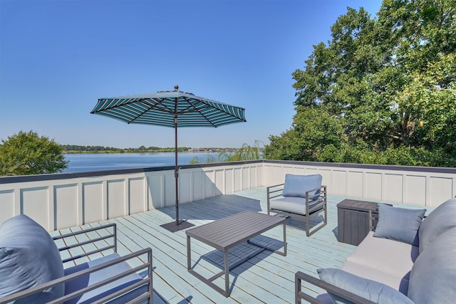
{"type": "Polygon", "coordinates": [[[378,224],[373,236],[418,246],[418,229],[426,209],[405,209],[378,204],[378,224]]]}

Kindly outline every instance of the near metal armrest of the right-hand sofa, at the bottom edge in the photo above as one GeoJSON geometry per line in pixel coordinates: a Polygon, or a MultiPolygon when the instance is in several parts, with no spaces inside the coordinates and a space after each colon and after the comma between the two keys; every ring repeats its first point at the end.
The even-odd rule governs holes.
{"type": "Polygon", "coordinates": [[[306,281],[307,283],[311,283],[312,285],[315,285],[319,288],[323,288],[328,293],[333,293],[334,295],[338,295],[339,297],[349,300],[355,304],[375,304],[374,302],[372,302],[366,298],[360,297],[359,295],[351,293],[342,288],[338,288],[335,285],[331,285],[329,283],[321,281],[320,279],[315,278],[313,276],[309,276],[308,274],[303,273],[301,271],[298,271],[294,275],[294,278],[295,278],[296,304],[301,304],[301,300],[309,301],[309,303],[324,304],[321,300],[318,300],[317,298],[313,298],[311,295],[304,293],[304,291],[301,290],[301,281],[306,281]]]}

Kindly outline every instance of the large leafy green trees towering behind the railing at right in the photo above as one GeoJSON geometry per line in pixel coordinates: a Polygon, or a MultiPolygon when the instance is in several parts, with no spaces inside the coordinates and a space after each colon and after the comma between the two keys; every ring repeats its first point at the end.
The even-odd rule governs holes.
{"type": "Polygon", "coordinates": [[[331,36],[294,71],[294,122],[266,157],[454,166],[456,0],[384,0],[375,18],[348,8],[331,36]],[[324,122],[305,122],[309,109],[342,131],[315,142],[324,122]]]}

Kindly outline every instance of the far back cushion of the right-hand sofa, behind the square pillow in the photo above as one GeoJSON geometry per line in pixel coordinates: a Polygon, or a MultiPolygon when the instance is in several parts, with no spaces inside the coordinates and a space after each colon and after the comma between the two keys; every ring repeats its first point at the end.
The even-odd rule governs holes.
{"type": "Polygon", "coordinates": [[[448,199],[434,209],[420,226],[420,252],[445,231],[456,227],[456,198],[448,199]]]}

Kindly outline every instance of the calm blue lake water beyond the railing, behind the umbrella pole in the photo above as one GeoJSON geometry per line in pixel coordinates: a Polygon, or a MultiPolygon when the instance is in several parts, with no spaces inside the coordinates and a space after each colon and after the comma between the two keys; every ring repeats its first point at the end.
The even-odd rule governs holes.
{"type": "MultiPolygon", "coordinates": [[[[205,162],[208,157],[217,159],[219,153],[183,152],[177,154],[177,164],[189,164],[198,157],[205,162]]],[[[174,166],[174,152],[164,153],[110,153],[110,154],[65,154],[68,168],[63,172],[88,172],[113,169],[174,166]]]]}

